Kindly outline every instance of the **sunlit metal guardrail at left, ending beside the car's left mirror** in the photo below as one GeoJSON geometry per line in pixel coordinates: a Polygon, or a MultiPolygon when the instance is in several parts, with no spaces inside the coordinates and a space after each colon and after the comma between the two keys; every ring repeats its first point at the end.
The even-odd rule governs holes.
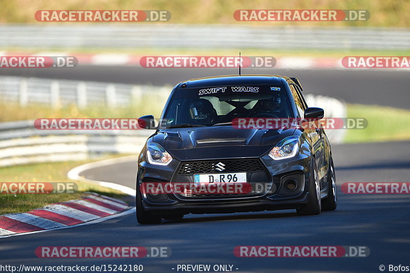
{"type": "Polygon", "coordinates": [[[0,123],[0,166],[137,154],[148,130],[37,130],[34,120],[0,123]]]}

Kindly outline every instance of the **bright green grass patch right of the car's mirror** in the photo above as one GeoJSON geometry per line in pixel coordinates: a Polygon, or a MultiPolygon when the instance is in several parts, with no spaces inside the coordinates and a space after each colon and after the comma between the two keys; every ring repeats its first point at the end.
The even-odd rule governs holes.
{"type": "Polygon", "coordinates": [[[347,130],[344,142],[381,142],[410,140],[410,111],[382,106],[348,104],[347,117],[366,118],[365,129],[347,130]]]}

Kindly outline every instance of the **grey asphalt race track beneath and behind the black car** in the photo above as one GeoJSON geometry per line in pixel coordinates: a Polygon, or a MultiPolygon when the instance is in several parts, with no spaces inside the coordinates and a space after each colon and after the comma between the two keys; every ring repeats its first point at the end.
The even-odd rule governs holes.
{"type": "MultiPolygon", "coordinates": [[[[202,75],[217,74],[210,70],[77,69],[83,68],[83,74],[74,70],[71,74],[54,74],[56,70],[47,74],[39,70],[24,73],[156,85],[196,77],[202,71],[202,75]]],[[[309,93],[341,97],[348,102],[409,108],[409,95],[405,93],[408,72],[288,70],[275,73],[299,77],[309,93]]],[[[332,149],[339,185],[339,204],[334,212],[304,217],[297,216],[294,210],[187,215],[180,222],[163,221],[159,225],[139,225],[135,215],[130,214],[92,225],[1,239],[0,263],[142,264],[144,272],[177,272],[172,269],[177,264],[233,264],[234,272],[380,272],[382,264],[387,267],[385,271],[389,264],[410,265],[410,196],[348,195],[340,191],[343,182],[408,182],[410,142],[341,144],[333,145],[332,149]],[[52,245],[169,246],[172,256],[142,259],[40,259],[35,256],[36,247],[52,245]],[[367,258],[237,258],[233,249],[238,245],[368,246],[371,254],[367,258]]],[[[135,188],[135,174],[136,162],[133,161],[91,169],[82,175],[135,188]]]]}

